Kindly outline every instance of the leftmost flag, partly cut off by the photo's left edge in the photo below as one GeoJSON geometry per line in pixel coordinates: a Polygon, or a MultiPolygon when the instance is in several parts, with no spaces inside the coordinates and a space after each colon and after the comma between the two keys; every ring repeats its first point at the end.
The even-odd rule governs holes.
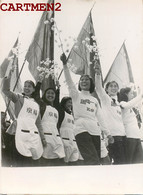
{"type": "MultiPolygon", "coordinates": [[[[4,62],[1,64],[1,78],[8,76],[9,71],[13,67],[13,72],[10,79],[10,90],[16,93],[22,92],[21,80],[19,78],[19,67],[18,67],[18,39],[16,40],[13,48],[9,52],[7,58],[5,58],[4,62]]],[[[3,85],[3,80],[1,82],[1,87],[3,85]]],[[[6,112],[8,111],[9,116],[12,120],[15,119],[15,107],[14,103],[10,101],[2,92],[2,97],[4,98],[6,104],[6,112]]]]}

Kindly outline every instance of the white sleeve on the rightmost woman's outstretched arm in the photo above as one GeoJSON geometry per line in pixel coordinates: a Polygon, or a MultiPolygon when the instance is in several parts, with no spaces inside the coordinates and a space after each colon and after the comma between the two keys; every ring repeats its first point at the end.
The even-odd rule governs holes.
{"type": "Polygon", "coordinates": [[[138,104],[141,101],[141,99],[142,99],[142,95],[139,95],[128,102],[124,102],[124,101],[120,102],[120,106],[125,109],[130,109],[134,107],[136,104],[138,104]]]}

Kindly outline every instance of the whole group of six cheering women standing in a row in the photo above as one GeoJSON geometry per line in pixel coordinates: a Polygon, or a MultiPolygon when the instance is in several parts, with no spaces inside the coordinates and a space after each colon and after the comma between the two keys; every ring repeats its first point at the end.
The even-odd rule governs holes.
{"type": "Polygon", "coordinates": [[[4,78],[3,93],[15,104],[15,121],[7,129],[12,139],[11,166],[104,165],[143,162],[141,129],[131,88],[119,91],[116,81],[102,87],[95,68],[95,84],[82,75],[78,89],[72,81],[65,54],[61,61],[69,97],[59,101],[59,85],[49,86],[40,97],[41,82],[27,80],[23,94],[10,91],[4,78]],[[100,103],[91,94],[96,90],[100,103]]]}

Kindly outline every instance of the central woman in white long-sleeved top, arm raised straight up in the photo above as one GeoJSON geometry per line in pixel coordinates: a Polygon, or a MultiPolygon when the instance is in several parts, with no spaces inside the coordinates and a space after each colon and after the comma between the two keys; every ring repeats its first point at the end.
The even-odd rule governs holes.
{"type": "Polygon", "coordinates": [[[98,100],[91,93],[94,91],[94,84],[88,75],[82,75],[79,80],[78,89],[72,81],[65,54],[62,54],[65,79],[72,98],[73,114],[75,119],[75,138],[79,151],[84,159],[85,165],[100,164],[100,136],[101,129],[113,141],[104,124],[102,112],[98,100]],[[100,125],[99,125],[100,123],[100,125]]]}

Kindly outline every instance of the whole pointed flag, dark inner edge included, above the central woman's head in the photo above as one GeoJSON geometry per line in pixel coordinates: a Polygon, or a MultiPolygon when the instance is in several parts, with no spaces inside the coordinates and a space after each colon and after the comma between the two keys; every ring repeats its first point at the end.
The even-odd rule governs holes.
{"type": "MultiPolygon", "coordinates": [[[[75,74],[90,75],[93,82],[95,81],[95,67],[98,67],[101,70],[91,11],[78,35],[77,42],[71,49],[67,64],[70,70],[75,74]]],[[[94,91],[92,95],[96,97],[100,103],[96,91],[94,91]]]]}

